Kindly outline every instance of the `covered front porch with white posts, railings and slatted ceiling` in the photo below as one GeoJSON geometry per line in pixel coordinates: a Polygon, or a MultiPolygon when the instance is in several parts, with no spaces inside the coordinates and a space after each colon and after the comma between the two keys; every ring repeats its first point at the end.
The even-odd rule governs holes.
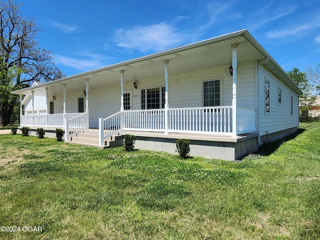
{"type": "Polygon", "coordinates": [[[250,35],[250,41],[246,37],[245,31],[238,31],[15,91],[21,102],[22,95],[31,96],[31,114],[20,116],[21,126],[63,128],[66,141],[80,131],[98,128],[99,146],[123,131],[234,139],[255,132],[254,68],[263,54],[251,45],[250,35]],[[204,85],[214,82],[217,86],[204,85]],[[147,96],[153,89],[158,95],[147,96]],[[33,107],[34,96],[43,97],[42,111],[33,107]]]}

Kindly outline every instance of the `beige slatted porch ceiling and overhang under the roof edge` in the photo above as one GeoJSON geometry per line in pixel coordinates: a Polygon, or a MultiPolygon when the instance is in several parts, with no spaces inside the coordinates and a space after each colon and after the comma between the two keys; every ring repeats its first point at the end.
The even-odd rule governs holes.
{"type": "Polygon", "coordinates": [[[277,63],[265,52],[254,38],[246,30],[240,30],[208,40],[68,76],[38,86],[24,88],[22,90],[14,91],[13,93],[29,95],[31,94],[31,90],[34,90],[34,95],[45,96],[45,88],[48,87],[49,95],[59,94],[63,91],[62,83],[66,84],[66,92],[84,90],[86,78],[89,79],[90,89],[105,85],[119,84],[120,70],[124,70],[124,82],[161,76],[163,76],[164,82],[163,60],[169,59],[169,75],[217,66],[228,66],[231,64],[231,45],[234,43],[238,44],[237,61],[239,63],[260,60],[268,56],[271,61],[274,62],[273,64],[269,64],[269,67],[273,69],[275,74],[282,74],[277,69],[279,67],[277,63]]]}

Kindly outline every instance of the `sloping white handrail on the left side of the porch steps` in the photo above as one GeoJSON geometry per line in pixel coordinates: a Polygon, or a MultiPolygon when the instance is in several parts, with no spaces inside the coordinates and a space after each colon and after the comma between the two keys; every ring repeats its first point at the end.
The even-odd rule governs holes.
{"type": "Polygon", "coordinates": [[[64,124],[64,140],[69,141],[71,136],[74,136],[76,133],[87,129],[87,113],[81,113],[80,115],[74,116],[70,119],[66,117],[64,119],[64,124]]]}

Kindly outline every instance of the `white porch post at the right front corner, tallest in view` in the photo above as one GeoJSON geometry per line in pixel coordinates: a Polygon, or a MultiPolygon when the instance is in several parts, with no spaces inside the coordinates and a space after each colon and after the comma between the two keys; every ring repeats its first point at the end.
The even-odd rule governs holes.
{"type": "Polygon", "coordinates": [[[237,67],[237,44],[232,44],[232,67],[233,67],[233,83],[232,83],[232,137],[236,137],[236,67],[237,67]]]}

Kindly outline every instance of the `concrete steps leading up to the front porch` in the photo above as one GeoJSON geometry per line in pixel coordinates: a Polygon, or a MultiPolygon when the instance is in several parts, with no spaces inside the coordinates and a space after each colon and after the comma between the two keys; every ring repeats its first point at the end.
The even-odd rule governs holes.
{"type": "Polygon", "coordinates": [[[104,145],[99,146],[99,133],[96,129],[88,129],[83,132],[78,132],[76,136],[72,136],[70,143],[95,146],[101,148],[123,146],[123,136],[116,134],[104,140],[104,145]]]}

